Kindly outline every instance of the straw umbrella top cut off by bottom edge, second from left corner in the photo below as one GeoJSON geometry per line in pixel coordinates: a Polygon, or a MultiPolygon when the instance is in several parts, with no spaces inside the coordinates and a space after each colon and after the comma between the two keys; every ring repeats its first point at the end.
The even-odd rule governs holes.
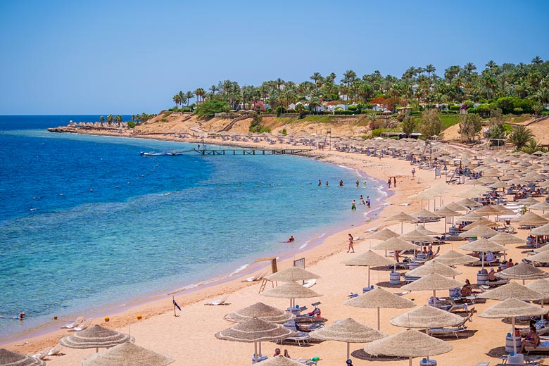
{"type": "Polygon", "coordinates": [[[175,360],[132,343],[122,343],[82,360],[82,366],[166,366],[175,360]]]}

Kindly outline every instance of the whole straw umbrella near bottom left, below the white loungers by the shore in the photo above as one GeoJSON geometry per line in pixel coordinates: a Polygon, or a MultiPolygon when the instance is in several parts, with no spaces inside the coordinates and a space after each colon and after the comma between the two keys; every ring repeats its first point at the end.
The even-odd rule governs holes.
{"type": "Polygon", "coordinates": [[[96,348],[96,352],[99,352],[99,348],[114,347],[127,341],[133,343],[135,339],[129,334],[119,333],[113,329],[101,327],[101,325],[94,325],[93,327],[59,339],[61,346],[69,348],[96,348]]]}

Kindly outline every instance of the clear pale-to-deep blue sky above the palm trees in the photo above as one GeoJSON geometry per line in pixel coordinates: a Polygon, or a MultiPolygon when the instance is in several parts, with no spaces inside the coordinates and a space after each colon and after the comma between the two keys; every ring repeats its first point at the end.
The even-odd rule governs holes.
{"type": "Polygon", "coordinates": [[[220,80],[549,59],[549,1],[1,0],[0,114],[134,114],[220,80]]]}

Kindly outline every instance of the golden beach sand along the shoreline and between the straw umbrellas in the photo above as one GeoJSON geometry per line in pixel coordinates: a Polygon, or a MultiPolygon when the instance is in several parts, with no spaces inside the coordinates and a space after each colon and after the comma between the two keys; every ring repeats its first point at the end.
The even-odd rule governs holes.
{"type": "MultiPolygon", "coordinates": [[[[130,137],[126,134],[113,133],[115,136],[130,137]]],[[[136,136],[132,136],[136,137],[136,136]]],[[[155,136],[160,139],[172,139],[182,141],[169,136],[155,136]]],[[[202,141],[202,140],[185,140],[202,141]]],[[[221,144],[218,139],[206,139],[203,143],[221,144]]],[[[223,142],[223,144],[226,144],[223,142]]],[[[261,144],[239,144],[241,146],[260,146],[261,144]]],[[[262,143],[265,144],[265,143],[262,143]]],[[[263,146],[267,146],[266,144],[263,146]]],[[[269,148],[284,147],[283,145],[268,145],[269,148]]],[[[366,286],[367,270],[364,267],[346,267],[341,264],[343,260],[351,258],[367,251],[372,245],[377,244],[376,240],[360,240],[355,243],[356,253],[347,253],[347,234],[351,233],[358,237],[367,229],[382,229],[388,227],[395,232],[400,232],[400,223],[385,222],[384,219],[393,214],[403,211],[412,213],[419,210],[419,201],[411,201],[408,196],[417,193],[427,187],[437,184],[443,184],[443,179],[435,179],[434,172],[429,170],[419,170],[416,168],[415,179],[412,179],[412,166],[405,160],[395,158],[373,158],[366,155],[341,153],[337,151],[313,151],[307,153],[310,158],[317,158],[327,163],[344,165],[350,168],[356,168],[381,182],[386,182],[388,177],[396,177],[397,188],[391,188],[391,195],[383,203],[383,210],[376,211],[372,220],[365,222],[360,226],[346,227],[343,231],[331,234],[323,239],[322,244],[314,248],[304,248],[303,251],[296,253],[296,258],[305,257],[306,269],[319,274],[322,278],[317,280],[313,289],[320,294],[320,298],[296,300],[300,305],[308,305],[314,301],[320,301],[322,316],[327,318],[327,324],[334,320],[340,320],[352,317],[354,320],[370,327],[376,327],[377,313],[375,309],[353,308],[343,305],[348,294],[362,292],[362,287],[366,286]],[[389,204],[390,203],[390,204],[389,204]],[[409,205],[408,205],[409,203],[409,205]],[[407,206],[402,206],[403,204],[407,206]]],[[[444,195],[443,204],[450,201],[458,201],[461,198],[453,198],[457,191],[462,190],[460,185],[449,185],[448,191],[444,195]]],[[[424,203],[427,206],[427,203],[424,203]]],[[[437,202],[437,207],[440,202],[437,202]]],[[[372,206],[372,208],[376,208],[372,206]]],[[[431,202],[431,210],[433,210],[431,202]]],[[[362,209],[362,208],[361,208],[362,209]]],[[[362,209],[364,210],[364,209],[362,209]]],[[[435,232],[443,232],[444,221],[429,222],[427,229],[435,232]]],[[[415,224],[404,224],[404,232],[415,229],[415,224]]],[[[518,230],[517,236],[525,238],[528,230],[518,230]]],[[[446,253],[450,249],[467,253],[457,248],[465,241],[449,242],[443,244],[440,253],[446,253]]],[[[507,258],[513,258],[519,261],[524,258],[524,244],[507,246],[507,258]]],[[[382,254],[381,252],[379,252],[382,254]]],[[[291,259],[282,260],[278,263],[279,270],[289,267],[291,259]]],[[[263,262],[253,267],[255,272],[270,269],[270,263],[263,262]]],[[[456,277],[457,280],[465,282],[470,279],[472,283],[476,282],[476,274],[479,267],[457,266],[457,269],[463,273],[456,277]]],[[[405,272],[405,271],[400,271],[405,272]]],[[[288,305],[286,299],[268,298],[258,295],[259,282],[243,282],[250,274],[246,273],[238,278],[210,286],[200,286],[193,291],[182,291],[175,294],[175,300],[182,307],[182,311],[177,310],[177,317],[174,316],[171,296],[156,299],[151,302],[142,303],[127,308],[121,313],[105,313],[94,318],[94,324],[101,324],[106,327],[118,330],[124,333],[130,333],[136,339],[136,344],[150,348],[153,351],[167,353],[175,358],[172,365],[201,364],[205,362],[215,362],[218,365],[249,365],[253,354],[253,343],[239,343],[222,341],[216,339],[214,334],[222,329],[232,327],[234,323],[223,320],[223,316],[235,310],[239,310],[256,302],[263,302],[277,308],[285,309],[288,305]],[[227,303],[229,305],[204,306],[206,301],[229,294],[227,303]],[[137,315],[142,319],[137,320],[137,315]],[[111,317],[110,322],[104,322],[103,317],[111,317]]],[[[528,283],[528,282],[527,282],[528,283]]],[[[400,291],[398,286],[389,285],[389,270],[384,268],[372,269],[372,284],[380,284],[389,291],[400,291]]],[[[271,286],[270,284],[267,284],[271,286]]],[[[440,291],[440,296],[447,296],[447,291],[440,291]]],[[[406,298],[413,299],[417,305],[427,304],[431,296],[430,291],[412,291],[406,295],[406,298]]],[[[496,301],[487,301],[475,305],[477,312],[481,312],[496,301]]],[[[389,320],[396,315],[405,313],[407,310],[381,309],[381,331],[387,334],[396,334],[403,331],[403,328],[395,327],[389,323],[389,320]]],[[[85,314],[83,314],[85,315],[85,314]]],[[[445,340],[450,343],[454,349],[450,353],[435,356],[438,365],[457,365],[463,362],[464,355],[468,365],[475,365],[479,361],[490,361],[493,364],[498,363],[499,359],[491,357],[501,354],[501,348],[505,345],[505,335],[510,332],[510,324],[501,320],[484,319],[474,315],[474,321],[467,323],[470,332],[460,336],[460,339],[448,337],[445,340]]],[[[65,324],[66,320],[59,320],[59,324],[65,324]]],[[[46,346],[54,346],[61,336],[68,334],[66,330],[58,330],[40,336],[32,336],[25,339],[18,339],[11,343],[4,344],[4,347],[20,353],[37,352],[46,346]]],[[[296,343],[284,343],[281,347],[272,342],[263,343],[263,354],[271,356],[274,348],[283,348],[289,351],[292,358],[312,358],[320,357],[322,360],[319,365],[343,365],[346,358],[346,343],[336,341],[312,342],[305,346],[298,346],[296,343]]],[[[365,353],[362,350],[363,344],[351,343],[351,352],[353,353],[354,365],[408,365],[408,360],[369,361],[362,360],[365,353]]],[[[77,350],[72,348],[63,348],[63,355],[51,356],[46,359],[47,365],[80,365],[80,360],[92,355],[94,349],[77,350]]],[[[414,365],[419,364],[420,359],[414,360],[414,365]]]]}

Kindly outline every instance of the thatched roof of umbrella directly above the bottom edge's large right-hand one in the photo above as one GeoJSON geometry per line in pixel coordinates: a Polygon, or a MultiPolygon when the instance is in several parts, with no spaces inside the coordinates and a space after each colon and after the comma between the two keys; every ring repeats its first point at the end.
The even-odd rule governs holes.
{"type": "Polygon", "coordinates": [[[463,317],[433,306],[422,305],[393,317],[389,322],[405,328],[442,328],[460,324],[463,322],[463,317]]]}

